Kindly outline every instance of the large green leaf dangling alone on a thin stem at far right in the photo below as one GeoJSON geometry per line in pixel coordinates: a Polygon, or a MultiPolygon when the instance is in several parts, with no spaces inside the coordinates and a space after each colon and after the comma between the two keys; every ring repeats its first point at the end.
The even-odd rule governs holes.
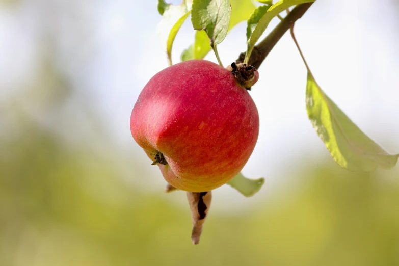
{"type": "Polygon", "coordinates": [[[399,154],[391,155],[367,137],[324,93],[308,71],[306,109],[317,135],[335,162],[352,171],[373,171],[396,165],[399,154]]]}

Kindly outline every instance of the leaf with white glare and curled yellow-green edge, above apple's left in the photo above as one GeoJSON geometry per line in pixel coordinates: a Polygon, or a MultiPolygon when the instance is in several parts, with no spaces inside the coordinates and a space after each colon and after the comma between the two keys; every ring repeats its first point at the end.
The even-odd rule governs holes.
{"type": "Polygon", "coordinates": [[[181,25],[191,13],[192,1],[183,1],[180,5],[161,4],[158,2],[158,11],[163,13],[163,18],[157,26],[158,37],[162,48],[167,52],[169,64],[172,65],[172,46],[181,25]],[[160,8],[161,6],[161,8],[160,8]]]}

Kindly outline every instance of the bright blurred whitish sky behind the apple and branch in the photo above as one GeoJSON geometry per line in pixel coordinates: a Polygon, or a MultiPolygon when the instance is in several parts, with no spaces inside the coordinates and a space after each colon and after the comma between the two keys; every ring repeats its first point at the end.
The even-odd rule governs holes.
{"type": "MultiPolygon", "coordinates": [[[[79,7],[65,0],[0,4],[0,103],[7,99],[4,94],[29,83],[45,47],[43,34],[56,32],[61,71],[95,102],[115,143],[142,155],[147,166],[128,124],[141,89],[167,67],[156,36],[161,20],[156,1],[85,0],[74,5],[79,7]]],[[[397,14],[399,4],[391,0],[318,0],[295,31],[318,84],[363,131],[395,153],[399,152],[397,14]]],[[[245,50],[245,29],[245,23],[237,25],[219,45],[224,65],[245,50]]],[[[193,34],[188,20],[175,40],[174,62],[191,44],[193,34]]],[[[213,54],[206,59],[216,62],[213,54]]],[[[243,172],[266,177],[269,186],[298,158],[308,155],[316,160],[329,154],[307,119],[306,69],[288,33],[259,72],[251,95],[260,114],[260,135],[243,172]]],[[[157,169],[151,171],[158,175],[157,169]]]]}

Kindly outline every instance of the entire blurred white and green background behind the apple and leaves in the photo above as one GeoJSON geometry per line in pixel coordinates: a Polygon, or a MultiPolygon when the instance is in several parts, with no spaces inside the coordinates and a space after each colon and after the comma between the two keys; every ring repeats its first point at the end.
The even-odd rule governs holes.
{"type": "MultiPolygon", "coordinates": [[[[399,166],[334,163],[307,119],[289,34],[251,91],[261,128],[243,173],[265,185],[252,198],[215,190],[192,245],[185,193],[163,192],[129,130],[141,89],[167,67],[160,20],[155,0],[0,0],[0,265],[399,265],[399,166]]],[[[225,65],[245,29],[219,46],[225,65]]],[[[397,0],[316,1],[296,25],[318,84],[391,153],[398,32],[397,0]]],[[[188,20],[174,62],[193,39],[188,20]]]]}

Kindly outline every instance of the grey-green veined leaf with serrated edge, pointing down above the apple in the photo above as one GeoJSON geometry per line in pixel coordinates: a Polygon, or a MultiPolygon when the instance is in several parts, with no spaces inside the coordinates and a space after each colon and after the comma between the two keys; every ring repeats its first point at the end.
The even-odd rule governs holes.
{"type": "Polygon", "coordinates": [[[206,32],[210,46],[214,46],[226,37],[230,15],[229,0],[194,0],[191,22],[195,30],[206,32]]]}

